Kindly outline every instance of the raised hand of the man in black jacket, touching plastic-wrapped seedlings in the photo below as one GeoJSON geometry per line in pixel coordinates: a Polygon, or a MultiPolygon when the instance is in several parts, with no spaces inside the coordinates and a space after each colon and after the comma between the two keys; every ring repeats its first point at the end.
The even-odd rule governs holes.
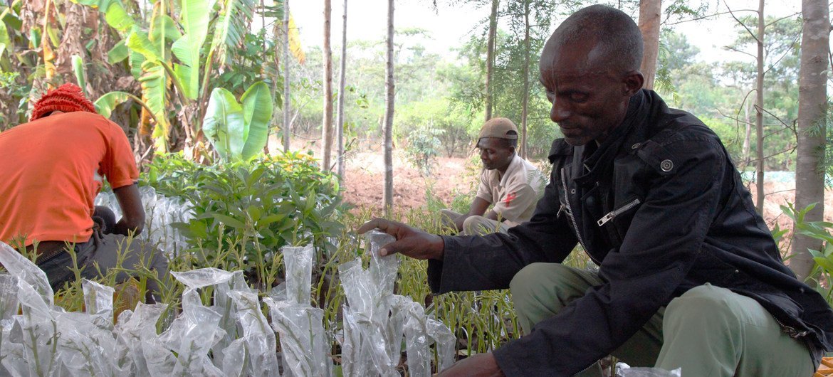
{"type": "Polygon", "coordinates": [[[442,237],[421,231],[397,221],[376,218],[359,227],[359,234],[379,229],[397,238],[397,241],[382,246],[380,254],[400,253],[415,259],[442,259],[444,243],[442,237]]]}

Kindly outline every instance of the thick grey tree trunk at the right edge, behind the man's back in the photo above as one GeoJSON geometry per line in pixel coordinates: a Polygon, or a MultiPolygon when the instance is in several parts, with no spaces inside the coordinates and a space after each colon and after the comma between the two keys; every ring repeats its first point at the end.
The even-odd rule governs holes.
{"type": "MultiPolygon", "coordinates": [[[[825,156],[827,113],[827,57],[830,54],[830,6],[826,1],[802,0],[804,27],[801,34],[801,68],[798,79],[798,151],[796,151],[796,209],[816,203],[805,221],[823,221],[825,180],[821,162],[825,156]]],[[[795,226],[794,226],[795,229],[795,226]]],[[[811,273],[812,255],[821,241],[794,232],[790,268],[800,280],[811,273]]]]}

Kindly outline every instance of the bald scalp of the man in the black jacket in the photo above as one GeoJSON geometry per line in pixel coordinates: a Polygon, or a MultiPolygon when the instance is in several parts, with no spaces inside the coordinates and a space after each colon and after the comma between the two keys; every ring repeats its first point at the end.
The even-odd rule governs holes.
{"type": "MultiPolygon", "coordinates": [[[[591,5],[567,17],[546,41],[541,63],[551,62],[564,46],[596,45],[604,70],[616,73],[639,71],[642,34],[625,12],[606,5],[591,5]]],[[[594,59],[596,60],[596,59],[594,59]]],[[[599,60],[596,60],[599,61],[599,60]]]]}

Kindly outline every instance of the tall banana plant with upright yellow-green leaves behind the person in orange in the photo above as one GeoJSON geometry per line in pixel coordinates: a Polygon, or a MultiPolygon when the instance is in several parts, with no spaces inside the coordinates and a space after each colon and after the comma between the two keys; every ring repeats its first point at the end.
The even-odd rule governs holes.
{"type": "MultiPolygon", "coordinates": [[[[178,0],[177,20],[168,14],[168,0],[153,3],[150,25],[142,26],[116,0],[82,0],[102,7],[105,19],[123,40],[107,54],[111,63],[127,59],[131,72],[142,86],[142,101],[157,119],[152,138],[157,152],[167,151],[170,125],[168,115],[177,114],[186,134],[186,145],[199,138],[202,104],[215,53],[225,54],[227,45],[237,46],[247,32],[255,0],[178,0]],[[217,21],[211,27],[211,20],[217,21]],[[211,31],[211,35],[209,33],[211,31]],[[203,45],[211,38],[206,51],[203,45]],[[201,71],[203,73],[201,81],[201,71]],[[175,105],[179,104],[179,108],[175,105]],[[186,108],[187,111],[182,111],[186,108]]],[[[87,4],[88,3],[88,4],[87,4]]],[[[113,96],[112,98],[125,98],[113,96]]],[[[117,104],[116,104],[117,105],[117,104]]]]}

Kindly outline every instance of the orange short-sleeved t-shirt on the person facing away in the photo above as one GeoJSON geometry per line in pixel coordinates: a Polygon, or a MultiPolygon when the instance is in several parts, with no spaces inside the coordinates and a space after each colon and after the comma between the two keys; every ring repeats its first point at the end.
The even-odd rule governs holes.
{"type": "Polygon", "coordinates": [[[58,113],[0,132],[0,241],[89,240],[103,176],[118,188],[139,172],[122,127],[98,114],[58,113]]]}

